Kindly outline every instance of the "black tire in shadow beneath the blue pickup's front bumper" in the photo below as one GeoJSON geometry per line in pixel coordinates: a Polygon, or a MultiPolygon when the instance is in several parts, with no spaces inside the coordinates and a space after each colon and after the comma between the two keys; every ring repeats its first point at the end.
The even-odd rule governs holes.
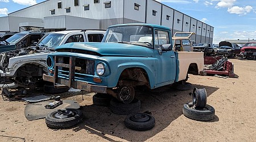
{"type": "Polygon", "coordinates": [[[109,106],[113,97],[109,94],[96,93],[93,95],[93,104],[97,106],[109,106]]]}

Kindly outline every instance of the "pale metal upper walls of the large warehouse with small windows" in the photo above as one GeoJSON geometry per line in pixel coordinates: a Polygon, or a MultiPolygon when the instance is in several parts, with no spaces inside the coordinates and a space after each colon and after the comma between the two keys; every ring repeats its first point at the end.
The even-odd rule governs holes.
{"type": "MultiPolygon", "coordinates": [[[[195,32],[196,35],[193,35],[191,40],[196,40],[196,43],[212,42],[213,39],[213,27],[208,27],[207,24],[155,0],[100,0],[100,3],[94,3],[92,0],[80,0],[79,6],[75,6],[72,0],[51,0],[9,14],[9,16],[40,19],[60,15],[98,19],[101,29],[106,29],[113,24],[152,23],[171,28],[172,35],[177,31],[195,32]],[[61,9],[57,8],[59,1],[62,2],[61,9]],[[111,2],[111,7],[105,8],[105,2],[111,2]],[[139,10],[134,9],[134,3],[139,5],[139,10]],[[84,7],[88,5],[89,10],[85,11],[84,7]],[[71,12],[66,12],[68,7],[70,7],[71,12]],[[51,10],[55,10],[55,14],[52,15],[51,10]],[[155,16],[152,14],[153,10],[156,11],[155,16]],[[169,20],[167,20],[167,15],[170,16],[169,20]],[[203,31],[204,28],[205,31],[203,31]]],[[[3,22],[0,21],[0,23],[3,22]]],[[[60,27],[63,27],[63,23],[60,24],[60,27]]]]}

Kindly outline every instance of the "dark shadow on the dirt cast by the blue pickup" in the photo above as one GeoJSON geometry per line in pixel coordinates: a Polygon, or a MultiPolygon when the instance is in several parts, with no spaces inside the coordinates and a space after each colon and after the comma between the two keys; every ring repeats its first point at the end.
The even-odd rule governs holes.
{"type": "MultiPolygon", "coordinates": [[[[208,96],[218,90],[217,87],[192,86],[199,89],[205,88],[208,96]]],[[[136,97],[141,100],[140,112],[150,111],[156,120],[155,127],[148,130],[150,132],[130,130],[124,124],[126,116],[113,114],[108,107],[96,105],[82,106],[84,122],[74,127],[73,131],[86,130],[88,133],[101,136],[109,141],[114,141],[111,136],[120,137],[127,141],[145,141],[163,131],[171,122],[183,115],[184,103],[192,102],[192,96],[189,95],[192,91],[193,89],[188,91],[174,90],[170,86],[154,90],[138,89],[136,97]]],[[[216,121],[218,121],[217,116],[208,123],[216,121]]]]}

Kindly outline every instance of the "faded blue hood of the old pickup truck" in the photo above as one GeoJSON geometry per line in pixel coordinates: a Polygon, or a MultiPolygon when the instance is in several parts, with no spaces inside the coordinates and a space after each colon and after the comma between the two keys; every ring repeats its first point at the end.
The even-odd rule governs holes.
{"type": "Polygon", "coordinates": [[[139,56],[148,57],[152,48],[126,43],[68,43],[55,48],[55,51],[90,51],[101,56],[139,56]]]}

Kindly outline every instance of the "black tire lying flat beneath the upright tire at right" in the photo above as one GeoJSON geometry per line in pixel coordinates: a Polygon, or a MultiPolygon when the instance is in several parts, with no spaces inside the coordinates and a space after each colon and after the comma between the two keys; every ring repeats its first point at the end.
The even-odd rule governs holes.
{"type": "Polygon", "coordinates": [[[205,105],[203,109],[193,108],[193,103],[185,103],[183,106],[183,114],[187,118],[197,121],[208,121],[214,119],[215,110],[210,105],[205,105]]]}

